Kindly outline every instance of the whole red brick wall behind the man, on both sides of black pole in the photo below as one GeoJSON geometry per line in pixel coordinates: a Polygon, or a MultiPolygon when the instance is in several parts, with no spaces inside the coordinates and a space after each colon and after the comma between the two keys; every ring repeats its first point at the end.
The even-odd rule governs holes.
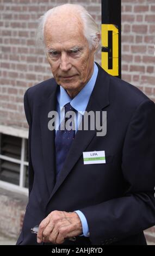
{"type": "MultiPolygon", "coordinates": [[[[34,44],[38,18],[63,3],[79,3],[101,23],[101,1],[1,0],[0,124],[27,127],[23,94],[51,77],[44,53],[34,44]]],[[[155,2],[122,0],[122,78],[155,101],[155,2]]],[[[97,57],[100,62],[100,54],[97,57]]],[[[147,231],[155,242],[155,229],[147,231]]]]}

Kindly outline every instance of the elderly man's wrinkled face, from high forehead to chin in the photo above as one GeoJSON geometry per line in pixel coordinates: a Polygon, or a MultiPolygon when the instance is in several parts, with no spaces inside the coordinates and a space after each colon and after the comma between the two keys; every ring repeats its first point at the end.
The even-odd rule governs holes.
{"type": "Polygon", "coordinates": [[[47,59],[57,83],[76,94],[89,81],[94,68],[95,49],[90,50],[80,20],[47,20],[45,26],[47,59]],[[52,26],[51,26],[52,23],[52,26]]]}

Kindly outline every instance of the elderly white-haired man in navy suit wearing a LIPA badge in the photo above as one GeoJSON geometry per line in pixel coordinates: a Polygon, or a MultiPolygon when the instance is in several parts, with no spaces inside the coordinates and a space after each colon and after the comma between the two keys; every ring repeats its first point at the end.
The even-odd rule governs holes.
{"type": "Polygon", "coordinates": [[[29,202],[17,245],[145,245],[155,224],[154,103],[94,63],[101,36],[80,5],[48,10],[38,35],[54,78],[24,95],[29,202]],[[71,129],[61,130],[69,111],[71,129]],[[106,111],[104,136],[79,129],[89,111],[106,111]]]}

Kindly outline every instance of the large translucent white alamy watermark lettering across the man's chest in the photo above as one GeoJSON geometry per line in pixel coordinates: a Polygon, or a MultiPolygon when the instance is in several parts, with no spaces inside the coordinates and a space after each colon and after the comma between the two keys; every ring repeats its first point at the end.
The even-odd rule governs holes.
{"type": "MultiPolygon", "coordinates": [[[[107,111],[85,111],[82,118],[77,118],[77,115],[82,115],[74,111],[68,111],[65,113],[65,118],[60,123],[60,130],[77,130],[79,131],[95,131],[96,136],[106,136],[107,133],[107,111]],[[80,120],[77,125],[77,120],[80,120]]],[[[50,111],[48,113],[48,118],[51,120],[48,121],[48,129],[50,131],[58,129],[56,127],[57,120],[59,120],[59,114],[57,111],[50,111]]]]}

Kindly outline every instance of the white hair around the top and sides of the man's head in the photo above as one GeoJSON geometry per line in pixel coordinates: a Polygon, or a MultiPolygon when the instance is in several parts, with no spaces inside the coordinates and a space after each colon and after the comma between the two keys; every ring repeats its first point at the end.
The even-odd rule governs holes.
{"type": "Polygon", "coordinates": [[[89,48],[91,49],[93,46],[97,46],[97,50],[99,50],[101,46],[101,39],[100,36],[98,36],[98,34],[100,34],[100,29],[88,11],[86,11],[86,9],[79,4],[63,4],[46,11],[46,13],[39,19],[38,31],[36,32],[36,45],[38,47],[43,47],[45,50],[44,27],[47,18],[49,16],[53,16],[54,14],[58,14],[59,10],[65,10],[69,8],[75,11],[76,14],[79,14],[83,22],[83,34],[88,40],[89,48]]]}

